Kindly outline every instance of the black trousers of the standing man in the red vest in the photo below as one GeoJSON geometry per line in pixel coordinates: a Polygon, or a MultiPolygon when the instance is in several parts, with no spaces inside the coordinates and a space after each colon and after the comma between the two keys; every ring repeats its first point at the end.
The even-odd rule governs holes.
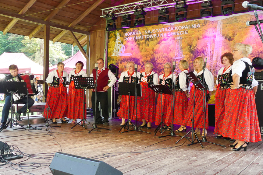
{"type": "Polygon", "coordinates": [[[108,113],[108,92],[97,92],[97,106],[96,106],[96,116],[95,116],[95,92],[92,92],[91,103],[93,108],[94,118],[96,117],[96,122],[101,122],[102,117],[100,116],[99,103],[101,104],[101,113],[104,117],[103,123],[109,122],[109,113],[108,113]]]}

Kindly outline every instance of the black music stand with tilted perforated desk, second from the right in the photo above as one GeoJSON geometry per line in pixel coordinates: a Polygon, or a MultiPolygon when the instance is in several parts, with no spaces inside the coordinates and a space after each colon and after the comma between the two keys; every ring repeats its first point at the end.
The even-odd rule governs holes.
{"type": "MultiPolygon", "coordinates": [[[[170,89],[165,86],[165,85],[153,85],[153,84],[148,84],[148,87],[151,88],[154,92],[156,93],[160,93],[161,94],[161,122],[158,125],[158,127],[155,129],[155,134],[156,135],[157,131],[159,131],[161,134],[166,131],[167,129],[169,129],[169,127],[163,122],[162,117],[163,117],[163,113],[162,113],[162,94],[170,94],[172,95],[172,92],[170,91],[170,89]],[[165,127],[165,129],[163,129],[162,127],[165,127]]],[[[172,97],[171,97],[172,98],[172,97]]],[[[170,130],[170,129],[169,129],[170,130]]]]}

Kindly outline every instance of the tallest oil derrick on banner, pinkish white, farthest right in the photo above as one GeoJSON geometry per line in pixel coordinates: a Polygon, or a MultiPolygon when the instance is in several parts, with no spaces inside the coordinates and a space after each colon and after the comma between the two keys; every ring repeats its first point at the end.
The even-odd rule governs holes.
{"type": "Polygon", "coordinates": [[[215,37],[215,50],[213,55],[213,62],[210,67],[210,71],[214,76],[217,76],[218,70],[222,67],[221,65],[221,54],[222,54],[222,40],[225,37],[222,37],[222,20],[219,20],[217,23],[216,37],[215,37]]]}

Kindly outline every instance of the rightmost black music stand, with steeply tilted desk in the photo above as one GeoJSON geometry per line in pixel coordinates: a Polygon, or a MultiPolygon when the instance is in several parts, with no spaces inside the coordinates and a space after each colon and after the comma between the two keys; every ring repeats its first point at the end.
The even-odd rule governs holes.
{"type": "MultiPolygon", "coordinates": [[[[204,89],[204,86],[202,85],[202,83],[199,81],[199,79],[197,79],[197,77],[194,75],[194,72],[189,72],[186,74],[186,76],[190,79],[190,81],[194,84],[194,106],[193,106],[193,118],[192,118],[192,128],[189,132],[187,132],[186,135],[188,135],[190,132],[192,132],[192,139],[191,141],[188,139],[188,137],[186,137],[186,135],[184,135],[182,138],[180,138],[176,144],[183,139],[184,137],[189,140],[189,142],[191,142],[190,144],[188,144],[187,146],[190,145],[194,145],[196,143],[200,143],[201,147],[204,148],[204,146],[202,145],[202,143],[200,142],[199,138],[197,137],[195,131],[194,131],[194,108],[195,108],[195,90],[196,88],[198,89],[204,89]],[[194,135],[195,135],[195,139],[194,139],[194,135]],[[195,140],[197,140],[198,142],[194,142],[195,140]]],[[[204,130],[204,135],[205,135],[205,130],[204,130]]]]}

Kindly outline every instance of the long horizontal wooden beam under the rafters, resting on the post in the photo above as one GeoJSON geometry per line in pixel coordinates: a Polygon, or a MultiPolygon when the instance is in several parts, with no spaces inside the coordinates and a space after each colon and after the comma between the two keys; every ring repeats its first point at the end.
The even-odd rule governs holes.
{"type": "Polygon", "coordinates": [[[89,35],[90,34],[88,31],[85,31],[85,30],[73,29],[72,27],[63,26],[61,24],[52,23],[52,22],[49,22],[49,21],[44,21],[42,19],[33,18],[31,16],[23,16],[23,15],[20,15],[20,14],[17,14],[17,13],[13,13],[13,12],[10,12],[10,11],[6,11],[6,10],[3,10],[3,9],[0,9],[0,16],[5,16],[5,17],[8,17],[8,18],[18,19],[18,20],[21,20],[21,21],[34,23],[34,24],[37,24],[37,25],[50,25],[50,27],[52,27],[52,28],[56,28],[56,29],[59,29],[59,30],[66,30],[66,32],[72,31],[74,33],[78,33],[78,34],[81,34],[81,35],[89,35]]]}

